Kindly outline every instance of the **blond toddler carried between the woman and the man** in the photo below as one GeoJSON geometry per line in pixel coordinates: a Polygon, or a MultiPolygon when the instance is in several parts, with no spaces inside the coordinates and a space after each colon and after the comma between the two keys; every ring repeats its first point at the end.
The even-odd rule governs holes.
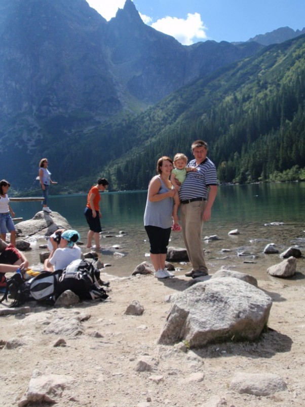
{"type": "MultiPolygon", "coordinates": [[[[185,178],[186,178],[186,174],[189,171],[197,171],[196,167],[192,167],[186,166],[187,164],[187,157],[186,155],[182,154],[182,153],[177,153],[174,156],[174,169],[171,173],[171,183],[173,185],[173,187],[179,191],[180,186],[182,185],[182,183],[184,182],[185,178]],[[177,183],[178,180],[178,183],[177,183]]],[[[179,195],[176,194],[174,196],[174,210],[173,210],[173,220],[174,220],[174,224],[172,226],[172,230],[174,231],[180,231],[181,230],[181,226],[179,225],[179,217],[178,217],[178,209],[179,209],[179,205],[180,205],[180,199],[179,199],[179,195]]]]}

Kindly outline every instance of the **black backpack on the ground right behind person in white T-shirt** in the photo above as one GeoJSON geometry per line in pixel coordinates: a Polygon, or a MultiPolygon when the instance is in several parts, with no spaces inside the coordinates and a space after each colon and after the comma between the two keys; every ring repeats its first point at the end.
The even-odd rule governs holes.
{"type": "Polygon", "coordinates": [[[108,286],[108,282],[100,280],[100,272],[94,262],[89,260],[73,260],[62,271],[56,285],[54,295],[59,297],[66,290],[72,291],[80,299],[106,299],[108,295],[101,285],[108,286]]]}

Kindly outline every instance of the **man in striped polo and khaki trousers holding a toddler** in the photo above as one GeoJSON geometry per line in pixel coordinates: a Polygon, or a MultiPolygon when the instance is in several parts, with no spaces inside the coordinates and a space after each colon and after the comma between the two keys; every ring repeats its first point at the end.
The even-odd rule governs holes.
{"type": "Polygon", "coordinates": [[[211,210],[217,194],[216,167],[207,157],[207,147],[207,143],[202,140],[192,144],[195,159],[187,166],[196,166],[197,171],[187,173],[179,190],[183,240],[193,266],[185,276],[193,279],[208,275],[201,232],[203,222],[211,219],[211,210]]]}

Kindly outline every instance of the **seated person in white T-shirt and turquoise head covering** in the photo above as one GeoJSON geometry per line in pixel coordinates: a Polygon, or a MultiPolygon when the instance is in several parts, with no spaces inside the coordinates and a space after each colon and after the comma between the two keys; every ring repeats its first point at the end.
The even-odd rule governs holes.
{"type": "Polygon", "coordinates": [[[44,262],[44,269],[48,272],[63,270],[73,260],[81,258],[81,249],[75,245],[81,236],[76,230],[68,229],[61,233],[59,244],[50,238],[52,250],[44,262]]]}

